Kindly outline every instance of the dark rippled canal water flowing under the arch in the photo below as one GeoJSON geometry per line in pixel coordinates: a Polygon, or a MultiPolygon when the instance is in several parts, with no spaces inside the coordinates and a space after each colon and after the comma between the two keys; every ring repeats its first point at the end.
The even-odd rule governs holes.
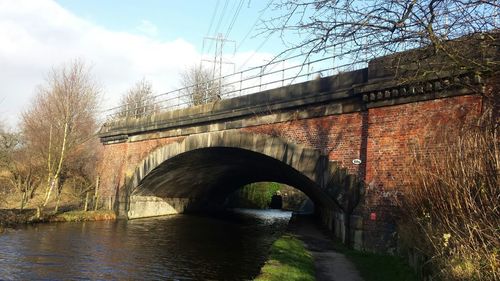
{"type": "Polygon", "coordinates": [[[0,280],[251,280],[290,212],[52,223],[0,235],[0,280]]]}

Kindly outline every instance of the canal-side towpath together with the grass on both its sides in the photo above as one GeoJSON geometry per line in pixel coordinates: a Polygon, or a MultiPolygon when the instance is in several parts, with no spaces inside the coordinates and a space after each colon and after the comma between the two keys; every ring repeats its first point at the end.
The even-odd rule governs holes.
{"type": "Polygon", "coordinates": [[[311,217],[293,216],[287,233],[275,244],[273,244],[268,261],[261,269],[261,274],[255,280],[417,280],[411,268],[401,258],[348,249],[322,232],[311,217]],[[293,240],[290,242],[289,237],[293,237],[298,242],[293,240]],[[300,243],[302,247],[289,250],[283,246],[291,243],[300,243]],[[280,257],[279,262],[275,261],[276,255],[280,257]],[[302,269],[310,272],[306,263],[295,262],[298,256],[309,256],[313,260],[312,279],[283,278],[280,275],[282,272],[290,271],[290,267],[295,267],[294,270],[302,269]]]}

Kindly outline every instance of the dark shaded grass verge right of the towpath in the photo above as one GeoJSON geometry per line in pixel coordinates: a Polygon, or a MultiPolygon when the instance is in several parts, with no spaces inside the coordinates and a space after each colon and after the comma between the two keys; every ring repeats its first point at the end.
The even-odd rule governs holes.
{"type": "Polygon", "coordinates": [[[365,281],[417,281],[413,269],[401,257],[348,249],[335,241],[335,250],[344,254],[365,281]]]}

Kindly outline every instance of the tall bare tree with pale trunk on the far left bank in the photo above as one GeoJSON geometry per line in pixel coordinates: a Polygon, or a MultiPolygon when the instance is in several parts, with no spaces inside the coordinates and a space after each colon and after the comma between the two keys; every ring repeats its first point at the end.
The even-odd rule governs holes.
{"type": "Polygon", "coordinates": [[[56,190],[57,203],[67,178],[68,158],[82,153],[82,146],[92,138],[97,125],[95,111],[99,87],[90,69],[73,61],[54,69],[30,108],[24,112],[23,134],[27,149],[45,162],[46,206],[56,190]]]}

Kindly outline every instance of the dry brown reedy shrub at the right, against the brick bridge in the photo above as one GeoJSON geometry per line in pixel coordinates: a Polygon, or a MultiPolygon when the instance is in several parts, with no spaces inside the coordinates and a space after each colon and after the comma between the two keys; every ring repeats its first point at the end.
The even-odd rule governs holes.
{"type": "Polygon", "coordinates": [[[499,127],[497,113],[468,122],[458,137],[415,150],[401,202],[401,241],[427,257],[440,280],[499,280],[499,127]]]}

